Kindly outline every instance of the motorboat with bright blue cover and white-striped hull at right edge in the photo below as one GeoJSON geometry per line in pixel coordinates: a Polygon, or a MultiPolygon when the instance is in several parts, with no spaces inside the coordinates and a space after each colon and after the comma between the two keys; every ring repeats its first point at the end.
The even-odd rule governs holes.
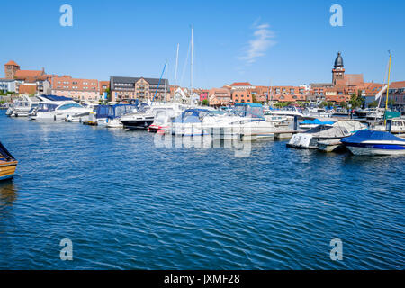
{"type": "Polygon", "coordinates": [[[341,142],[355,155],[405,155],[405,139],[389,132],[361,130],[341,142]]]}

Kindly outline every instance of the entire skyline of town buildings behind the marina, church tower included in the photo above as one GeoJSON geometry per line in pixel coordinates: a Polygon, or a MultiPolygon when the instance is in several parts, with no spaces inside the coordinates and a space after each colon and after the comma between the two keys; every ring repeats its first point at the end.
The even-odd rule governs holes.
{"type": "MultiPolygon", "coordinates": [[[[338,53],[332,68],[330,83],[310,85],[252,85],[249,82],[235,82],[220,88],[193,89],[171,86],[167,79],[149,77],[111,76],[109,81],[57,76],[41,70],[22,70],[14,61],[4,65],[5,78],[0,79],[0,91],[16,94],[56,94],[80,101],[105,100],[107,92],[112,102],[132,99],[141,101],[208,102],[212,106],[227,106],[234,103],[299,103],[350,101],[353,94],[365,97],[365,103],[372,103],[385,87],[383,84],[365,82],[363,74],[346,74],[343,58],[338,53]]],[[[390,85],[389,100],[405,106],[405,81],[390,85]]],[[[385,94],[383,94],[382,102],[385,94]]]]}

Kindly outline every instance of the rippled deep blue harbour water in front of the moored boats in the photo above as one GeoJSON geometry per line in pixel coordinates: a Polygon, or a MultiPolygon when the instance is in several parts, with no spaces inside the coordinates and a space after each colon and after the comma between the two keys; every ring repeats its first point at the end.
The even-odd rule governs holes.
{"type": "Polygon", "coordinates": [[[4,112],[0,140],[20,161],[0,184],[2,269],[405,268],[405,157],[261,141],[237,158],[4,112]]]}

